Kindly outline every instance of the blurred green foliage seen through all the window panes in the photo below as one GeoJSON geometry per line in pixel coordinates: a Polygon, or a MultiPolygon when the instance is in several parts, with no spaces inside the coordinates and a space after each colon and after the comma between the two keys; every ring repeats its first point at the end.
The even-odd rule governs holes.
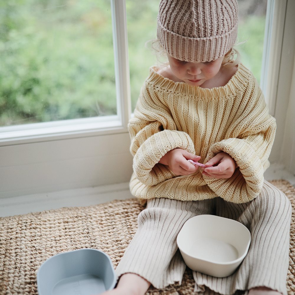
{"type": "MultiPolygon", "coordinates": [[[[156,63],[145,42],[158,3],[126,0],[132,108],[156,63]]],[[[239,27],[242,62],[258,80],[264,22],[253,14],[239,27]]],[[[116,113],[109,0],[0,0],[0,54],[0,126],[116,113]]]]}

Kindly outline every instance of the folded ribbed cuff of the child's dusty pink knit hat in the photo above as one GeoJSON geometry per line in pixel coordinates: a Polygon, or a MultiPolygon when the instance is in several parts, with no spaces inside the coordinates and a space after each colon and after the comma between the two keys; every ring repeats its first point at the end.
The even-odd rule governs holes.
{"type": "Polygon", "coordinates": [[[212,61],[224,56],[235,44],[237,23],[223,35],[193,38],[167,30],[158,19],[157,38],[165,51],[176,59],[190,62],[212,61]]]}

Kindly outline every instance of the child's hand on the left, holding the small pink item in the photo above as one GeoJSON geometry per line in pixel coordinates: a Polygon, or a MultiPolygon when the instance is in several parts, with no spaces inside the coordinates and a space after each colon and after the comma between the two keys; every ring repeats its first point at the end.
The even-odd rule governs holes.
{"type": "Polygon", "coordinates": [[[163,165],[169,166],[175,175],[189,175],[198,170],[198,166],[191,164],[188,160],[199,161],[200,156],[189,153],[186,150],[176,148],[166,153],[159,161],[163,165]]]}

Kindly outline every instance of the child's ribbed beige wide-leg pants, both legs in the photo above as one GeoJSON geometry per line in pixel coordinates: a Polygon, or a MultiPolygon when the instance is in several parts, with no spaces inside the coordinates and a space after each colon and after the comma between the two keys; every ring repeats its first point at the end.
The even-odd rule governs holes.
{"type": "Polygon", "coordinates": [[[287,294],[291,204],[281,191],[266,181],[260,195],[244,204],[229,203],[221,198],[148,200],[146,209],[138,216],[138,230],[116,268],[117,276],[136,273],[158,289],[175,282],[180,284],[186,265],[176,237],[184,222],[199,214],[214,214],[241,222],[251,232],[251,244],[247,256],[231,276],[216,278],[193,272],[195,291],[209,294],[212,290],[230,295],[237,290],[266,286],[287,294]]]}

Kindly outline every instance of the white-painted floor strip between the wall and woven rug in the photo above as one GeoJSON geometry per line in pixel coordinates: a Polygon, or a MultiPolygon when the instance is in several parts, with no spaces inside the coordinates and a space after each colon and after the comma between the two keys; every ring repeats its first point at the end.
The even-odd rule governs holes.
{"type": "MultiPolygon", "coordinates": [[[[285,179],[295,186],[295,175],[286,172],[279,165],[271,165],[266,170],[264,177],[268,181],[285,179]]],[[[18,196],[0,199],[0,217],[62,207],[90,206],[131,197],[129,183],[18,196]]]]}

